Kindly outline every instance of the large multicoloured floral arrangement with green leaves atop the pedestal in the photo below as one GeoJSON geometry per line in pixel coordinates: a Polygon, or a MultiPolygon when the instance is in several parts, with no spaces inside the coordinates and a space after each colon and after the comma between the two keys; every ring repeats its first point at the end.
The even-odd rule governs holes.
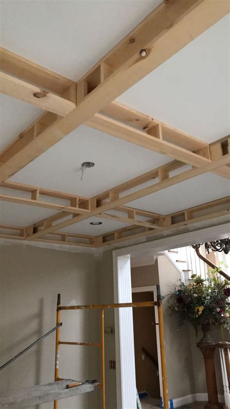
{"type": "Polygon", "coordinates": [[[193,325],[196,335],[198,325],[208,329],[219,324],[229,331],[230,287],[228,280],[216,277],[216,270],[204,280],[193,274],[189,284],[180,283],[170,293],[170,309],[179,317],[179,325],[188,321],[193,325]]]}

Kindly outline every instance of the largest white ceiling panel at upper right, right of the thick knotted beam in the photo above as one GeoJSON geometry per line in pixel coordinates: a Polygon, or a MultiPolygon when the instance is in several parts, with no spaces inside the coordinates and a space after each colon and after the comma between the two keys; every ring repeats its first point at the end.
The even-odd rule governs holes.
{"type": "Polygon", "coordinates": [[[117,100],[213,142],[229,134],[229,16],[117,100]]]}

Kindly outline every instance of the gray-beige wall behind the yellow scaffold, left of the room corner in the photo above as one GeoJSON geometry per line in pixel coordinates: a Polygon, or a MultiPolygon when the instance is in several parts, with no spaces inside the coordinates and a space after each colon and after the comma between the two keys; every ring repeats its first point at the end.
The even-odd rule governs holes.
{"type": "MultiPolygon", "coordinates": [[[[0,362],[56,325],[56,298],[62,304],[97,303],[95,257],[29,245],[3,245],[0,250],[0,362]]],[[[95,311],[63,311],[61,340],[97,340],[95,311]]],[[[55,333],[1,371],[2,390],[11,391],[54,380],[55,333]]],[[[97,350],[61,346],[60,377],[97,378],[97,350]]],[[[97,408],[97,393],[60,400],[60,409],[97,408]]],[[[53,403],[40,405],[53,408],[53,403]]],[[[40,409],[39,408],[39,409],[40,409]]],[[[38,409],[38,408],[37,408],[38,409]]]]}

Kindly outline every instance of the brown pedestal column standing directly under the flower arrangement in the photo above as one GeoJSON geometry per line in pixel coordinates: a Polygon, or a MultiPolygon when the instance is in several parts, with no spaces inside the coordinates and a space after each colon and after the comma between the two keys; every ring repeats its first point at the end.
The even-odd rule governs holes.
{"type": "Polygon", "coordinates": [[[214,353],[215,343],[214,341],[207,340],[208,337],[203,337],[198,343],[197,347],[202,352],[204,357],[204,366],[206,374],[208,403],[205,405],[205,409],[222,409],[223,405],[218,402],[218,392],[215,376],[215,364],[214,353]]]}

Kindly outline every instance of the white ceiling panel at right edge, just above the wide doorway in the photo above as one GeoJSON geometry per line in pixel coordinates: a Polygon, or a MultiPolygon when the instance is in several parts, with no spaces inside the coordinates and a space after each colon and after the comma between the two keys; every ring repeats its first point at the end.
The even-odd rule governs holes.
{"type": "Polygon", "coordinates": [[[230,181],[228,179],[206,173],[134,200],[126,205],[165,215],[212,202],[229,195],[230,181]]]}

